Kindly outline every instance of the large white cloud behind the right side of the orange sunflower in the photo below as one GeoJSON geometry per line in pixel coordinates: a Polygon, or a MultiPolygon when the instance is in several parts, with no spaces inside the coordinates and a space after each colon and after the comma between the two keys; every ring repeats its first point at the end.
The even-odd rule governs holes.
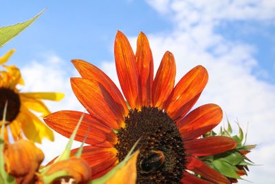
{"type": "MultiPolygon", "coordinates": [[[[261,145],[248,157],[263,165],[250,167],[245,179],[274,183],[275,85],[259,80],[253,73],[259,62],[253,57],[256,45],[227,40],[214,28],[223,21],[274,21],[275,1],[147,2],[161,14],[168,14],[175,26],[165,36],[148,35],[155,70],[166,50],[175,55],[177,80],[195,65],[204,65],[210,79],[197,105],[217,103],[231,121],[238,119],[243,127],[249,122],[248,143],[261,145]]],[[[135,40],[130,38],[133,47],[135,40]]],[[[114,63],[104,62],[102,68],[118,84],[114,63]]]]}

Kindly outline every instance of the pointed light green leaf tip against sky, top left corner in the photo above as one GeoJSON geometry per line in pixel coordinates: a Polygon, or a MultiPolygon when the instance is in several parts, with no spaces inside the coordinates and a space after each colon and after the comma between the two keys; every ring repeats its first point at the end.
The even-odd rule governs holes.
{"type": "Polygon", "coordinates": [[[23,23],[17,23],[15,25],[4,26],[0,28],[0,47],[8,43],[11,39],[17,36],[20,32],[25,30],[30,24],[32,24],[39,16],[44,12],[40,12],[34,18],[25,21],[23,23]]]}

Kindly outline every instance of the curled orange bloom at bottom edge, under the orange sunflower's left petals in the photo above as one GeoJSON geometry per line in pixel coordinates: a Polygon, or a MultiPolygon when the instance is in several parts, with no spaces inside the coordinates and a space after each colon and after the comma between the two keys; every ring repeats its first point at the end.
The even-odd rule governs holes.
{"type": "Polygon", "coordinates": [[[75,183],[87,183],[91,178],[91,170],[88,163],[83,159],[72,157],[66,161],[59,161],[50,166],[46,175],[54,174],[58,171],[67,172],[68,176],[57,178],[53,183],[61,183],[62,180],[69,181],[70,178],[75,183]]]}

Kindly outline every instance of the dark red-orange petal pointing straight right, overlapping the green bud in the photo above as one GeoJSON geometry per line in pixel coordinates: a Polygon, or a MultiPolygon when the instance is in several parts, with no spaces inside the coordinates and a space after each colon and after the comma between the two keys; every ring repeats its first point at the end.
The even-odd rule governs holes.
{"type": "Polygon", "coordinates": [[[186,154],[207,156],[232,150],[236,147],[234,139],[226,136],[210,136],[202,139],[184,141],[186,154]]]}

